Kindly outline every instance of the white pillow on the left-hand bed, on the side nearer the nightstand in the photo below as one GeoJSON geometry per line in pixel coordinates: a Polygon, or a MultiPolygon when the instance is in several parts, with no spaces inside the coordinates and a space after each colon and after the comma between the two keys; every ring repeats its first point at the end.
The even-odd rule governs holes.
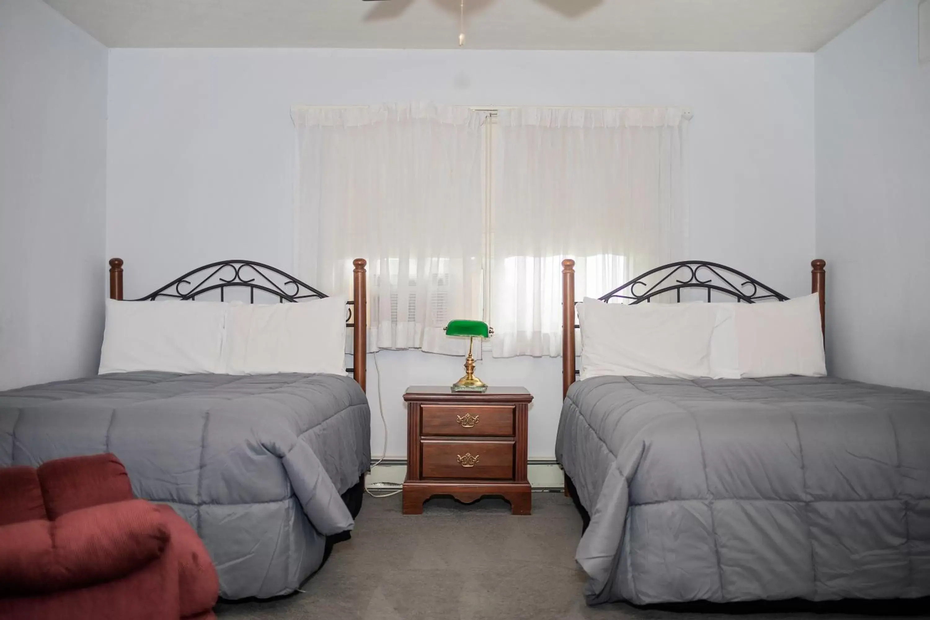
{"type": "Polygon", "coordinates": [[[346,298],[230,304],[220,372],[345,375],[346,298]]]}

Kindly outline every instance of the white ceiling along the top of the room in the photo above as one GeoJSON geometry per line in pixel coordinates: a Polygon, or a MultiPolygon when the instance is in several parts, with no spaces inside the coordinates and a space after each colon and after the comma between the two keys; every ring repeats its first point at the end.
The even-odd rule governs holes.
{"type": "MultiPolygon", "coordinates": [[[[458,46],[459,0],[46,0],[111,47],[458,46]]],[[[465,0],[479,49],[817,50],[881,0],[465,0]]]]}

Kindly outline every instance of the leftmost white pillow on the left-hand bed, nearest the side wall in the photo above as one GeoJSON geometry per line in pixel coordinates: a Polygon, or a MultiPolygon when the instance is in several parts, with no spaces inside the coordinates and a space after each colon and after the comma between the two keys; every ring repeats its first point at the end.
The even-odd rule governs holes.
{"type": "Polygon", "coordinates": [[[226,304],[106,300],[100,374],[217,373],[226,304]]]}

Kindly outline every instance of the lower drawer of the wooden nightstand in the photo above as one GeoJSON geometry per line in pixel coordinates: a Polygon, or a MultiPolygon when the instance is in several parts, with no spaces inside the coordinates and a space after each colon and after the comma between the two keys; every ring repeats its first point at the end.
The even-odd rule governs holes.
{"type": "Polygon", "coordinates": [[[422,442],[423,478],[513,479],[513,442],[422,442]]]}

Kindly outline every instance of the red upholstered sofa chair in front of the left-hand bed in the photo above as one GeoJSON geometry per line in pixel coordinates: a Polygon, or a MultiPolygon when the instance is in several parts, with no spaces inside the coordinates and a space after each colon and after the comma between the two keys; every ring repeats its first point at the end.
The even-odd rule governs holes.
{"type": "Polygon", "coordinates": [[[193,528],[114,455],[0,468],[0,619],[206,619],[218,596],[193,528]]]}

